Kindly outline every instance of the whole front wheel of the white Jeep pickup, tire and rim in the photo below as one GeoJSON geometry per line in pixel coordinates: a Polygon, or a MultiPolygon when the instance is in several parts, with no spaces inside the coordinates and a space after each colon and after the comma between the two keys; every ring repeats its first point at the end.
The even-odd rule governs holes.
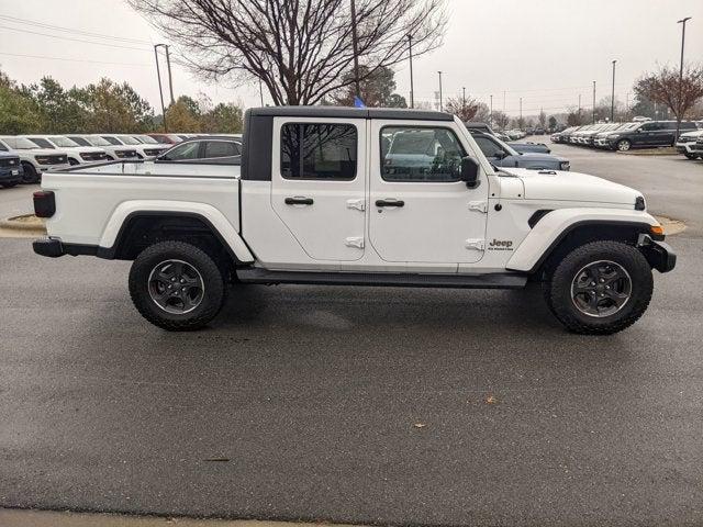
{"type": "Polygon", "coordinates": [[[645,313],[652,289],[651,268],[639,250],[602,240],[569,253],[546,283],[545,298],[569,330],[610,335],[645,313]]]}

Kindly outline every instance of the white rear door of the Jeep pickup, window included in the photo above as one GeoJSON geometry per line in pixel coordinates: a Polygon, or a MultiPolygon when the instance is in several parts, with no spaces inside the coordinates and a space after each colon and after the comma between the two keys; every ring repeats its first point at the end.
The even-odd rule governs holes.
{"type": "Polygon", "coordinates": [[[276,117],[274,145],[271,206],[291,235],[315,260],[361,258],[366,120],[276,117]]]}

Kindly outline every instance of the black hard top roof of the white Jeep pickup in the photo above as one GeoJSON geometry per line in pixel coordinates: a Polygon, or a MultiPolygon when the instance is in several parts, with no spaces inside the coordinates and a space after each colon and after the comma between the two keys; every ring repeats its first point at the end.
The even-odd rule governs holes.
{"type": "Polygon", "coordinates": [[[349,106],[266,106],[247,110],[252,116],[268,117],[341,117],[341,119],[401,119],[415,121],[454,121],[454,115],[432,110],[403,108],[349,106]]]}

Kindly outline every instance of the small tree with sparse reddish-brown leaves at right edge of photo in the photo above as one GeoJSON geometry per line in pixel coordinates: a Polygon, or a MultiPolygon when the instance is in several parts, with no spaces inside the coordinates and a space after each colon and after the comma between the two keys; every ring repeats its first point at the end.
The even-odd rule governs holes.
{"type": "Polygon", "coordinates": [[[638,98],[666,104],[677,117],[678,131],[688,111],[703,97],[703,66],[687,66],[681,81],[677,68],[663,66],[639,79],[634,90],[638,98]]]}

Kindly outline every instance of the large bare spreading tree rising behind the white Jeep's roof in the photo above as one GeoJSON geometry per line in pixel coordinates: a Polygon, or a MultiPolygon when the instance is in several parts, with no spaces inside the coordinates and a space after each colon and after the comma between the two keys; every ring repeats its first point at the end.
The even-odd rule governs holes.
{"type": "MultiPolygon", "coordinates": [[[[354,82],[350,0],[127,0],[210,80],[260,79],[275,104],[314,104],[354,82]]],[[[359,80],[442,44],[445,0],[356,0],[359,80]]]]}

